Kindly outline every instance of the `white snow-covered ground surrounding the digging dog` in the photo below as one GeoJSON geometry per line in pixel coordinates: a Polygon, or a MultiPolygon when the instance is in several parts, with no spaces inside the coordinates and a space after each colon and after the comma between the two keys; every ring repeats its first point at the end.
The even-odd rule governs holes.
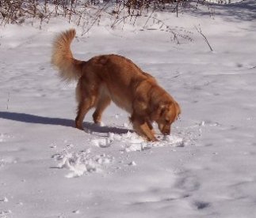
{"type": "Polygon", "coordinates": [[[178,100],[181,119],[155,143],[113,104],[104,125],[90,112],[85,132],[73,128],[75,84],[49,60],[55,33],[74,24],[1,26],[0,217],[256,217],[255,8],[155,13],[187,36],[180,44],[160,24],[143,28],[147,18],[113,30],[101,17],[84,36],[77,28],[76,58],[124,55],[178,100]]]}

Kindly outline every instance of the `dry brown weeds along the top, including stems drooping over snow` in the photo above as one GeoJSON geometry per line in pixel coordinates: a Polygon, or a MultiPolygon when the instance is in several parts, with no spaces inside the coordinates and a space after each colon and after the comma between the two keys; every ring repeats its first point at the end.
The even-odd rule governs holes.
{"type": "MultiPolygon", "coordinates": [[[[191,7],[195,0],[0,0],[0,25],[22,24],[25,21],[40,21],[47,24],[52,17],[64,17],[69,22],[82,26],[82,35],[94,25],[100,24],[102,15],[110,18],[111,28],[133,24],[143,18],[145,30],[148,24],[170,33],[170,39],[180,43],[181,39],[191,41],[190,33],[171,28],[154,14],[164,10],[178,17],[183,9],[191,7]]],[[[196,0],[198,4],[204,0],[196,0]]],[[[140,22],[141,23],[141,22],[140,22]]]]}

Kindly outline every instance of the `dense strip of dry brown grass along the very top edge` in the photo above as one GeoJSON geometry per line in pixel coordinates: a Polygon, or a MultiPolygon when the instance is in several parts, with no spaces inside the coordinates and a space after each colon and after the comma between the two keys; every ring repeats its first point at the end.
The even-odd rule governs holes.
{"type": "Polygon", "coordinates": [[[63,16],[71,19],[73,15],[82,17],[86,13],[84,9],[98,7],[100,12],[113,13],[120,17],[120,13],[126,16],[141,16],[148,9],[168,9],[177,13],[181,7],[186,6],[189,0],[0,0],[1,24],[22,23],[27,18],[39,18],[48,21],[50,17],[63,16]],[[102,7],[103,6],[103,7],[102,7]],[[106,7],[107,6],[107,7],[106,7]],[[107,8],[113,8],[111,12],[107,8]],[[83,9],[83,10],[82,10],[83,9]]]}

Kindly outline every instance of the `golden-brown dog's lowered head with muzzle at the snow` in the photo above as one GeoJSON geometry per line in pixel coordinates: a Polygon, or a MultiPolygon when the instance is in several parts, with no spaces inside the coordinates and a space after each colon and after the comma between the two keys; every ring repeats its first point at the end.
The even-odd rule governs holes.
{"type": "Polygon", "coordinates": [[[171,124],[178,118],[181,114],[181,107],[175,101],[170,101],[166,103],[159,103],[155,111],[155,122],[159,125],[159,130],[164,135],[170,134],[171,124]]]}

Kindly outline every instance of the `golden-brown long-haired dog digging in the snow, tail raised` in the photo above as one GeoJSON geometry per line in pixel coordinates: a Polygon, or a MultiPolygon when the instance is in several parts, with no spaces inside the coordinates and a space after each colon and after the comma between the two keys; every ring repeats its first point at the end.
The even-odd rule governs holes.
{"type": "Polygon", "coordinates": [[[152,122],[158,124],[162,134],[170,134],[181,108],[155,77],[117,54],[99,55],[88,61],[75,59],[71,52],[75,34],[75,29],[61,32],[52,49],[52,65],[59,70],[59,76],[64,81],[78,81],[75,127],[83,130],[83,119],[93,107],[94,122],[100,123],[103,111],[113,101],[131,115],[133,129],[147,141],[158,141],[152,122]]]}

